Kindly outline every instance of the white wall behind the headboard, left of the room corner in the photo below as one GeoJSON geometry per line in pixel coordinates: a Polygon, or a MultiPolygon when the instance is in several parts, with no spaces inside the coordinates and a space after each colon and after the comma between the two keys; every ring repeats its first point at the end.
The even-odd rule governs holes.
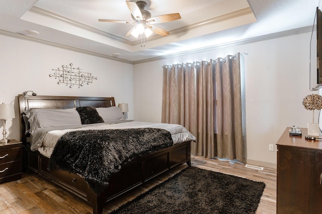
{"type": "Polygon", "coordinates": [[[129,104],[128,119],[133,119],[133,65],[2,35],[0,47],[0,102],[14,103],[16,113],[15,119],[7,121],[7,138],[19,140],[17,95],[26,90],[38,95],[114,96],[116,105],[129,104]],[[81,88],[58,85],[49,74],[69,63],[93,73],[98,80],[81,88]]]}

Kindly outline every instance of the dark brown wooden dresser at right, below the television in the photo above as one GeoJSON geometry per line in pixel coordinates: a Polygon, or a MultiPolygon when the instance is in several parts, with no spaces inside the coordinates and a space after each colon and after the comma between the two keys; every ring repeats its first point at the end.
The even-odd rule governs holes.
{"type": "Polygon", "coordinates": [[[290,136],[277,141],[277,213],[322,213],[322,140],[290,136]]]}

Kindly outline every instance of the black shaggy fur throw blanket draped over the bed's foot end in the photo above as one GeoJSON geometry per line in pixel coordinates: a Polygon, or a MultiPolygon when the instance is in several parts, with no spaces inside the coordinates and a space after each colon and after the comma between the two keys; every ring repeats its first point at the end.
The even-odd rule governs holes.
{"type": "Polygon", "coordinates": [[[78,174],[100,194],[124,164],[171,145],[171,133],[158,128],[71,131],[58,139],[48,169],[78,174]]]}

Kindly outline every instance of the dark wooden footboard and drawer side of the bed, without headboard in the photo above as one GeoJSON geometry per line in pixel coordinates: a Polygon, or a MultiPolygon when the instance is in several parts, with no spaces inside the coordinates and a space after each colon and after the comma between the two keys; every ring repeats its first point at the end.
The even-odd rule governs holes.
{"type": "Polygon", "coordinates": [[[153,177],[183,163],[191,165],[190,141],[173,145],[141,157],[127,165],[110,178],[109,186],[97,195],[84,178],[60,169],[48,170],[48,158],[38,151],[32,152],[25,145],[26,168],[49,179],[64,190],[76,195],[93,207],[93,213],[102,213],[104,205],[134,189],[153,177]]]}

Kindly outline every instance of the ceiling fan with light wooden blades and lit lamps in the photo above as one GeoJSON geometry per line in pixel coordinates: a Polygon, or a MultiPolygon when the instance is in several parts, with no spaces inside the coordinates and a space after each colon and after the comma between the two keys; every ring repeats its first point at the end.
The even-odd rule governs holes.
{"type": "Polygon", "coordinates": [[[181,19],[181,16],[179,13],[176,14],[167,14],[167,15],[161,15],[151,18],[151,13],[144,10],[146,7],[146,2],[138,1],[138,2],[131,2],[131,1],[125,1],[127,4],[127,7],[129,8],[131,12],[131,17],[133,21],[122,21],[122,20],[102,20],[99,19],[100,22],[114,22],[114,23],[125,23],[125,24],[136,24],[135,27],[133,27],[131,30],[129,30],[125,36],[134,36],[135,38],[138,37],[138,35],[142,35],[144,33],[145,37],[149,37],[152,33],[161,35],[161,36],[167,36],[169,35],[169,32],[159,28],[153,24],[158,23],[166,23],[171,22],[174,20],[181,19]]]}

